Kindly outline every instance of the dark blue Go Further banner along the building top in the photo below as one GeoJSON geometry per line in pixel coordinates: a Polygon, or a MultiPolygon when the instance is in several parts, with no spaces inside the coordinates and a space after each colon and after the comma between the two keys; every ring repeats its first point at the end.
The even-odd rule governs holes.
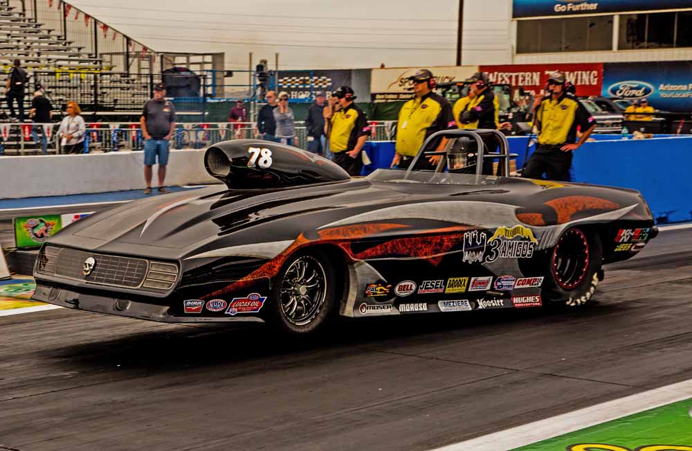
{"type": "Polygon", "coordinates": [[[513,0],[512,18],[692,8],[691,0],[513,0]]]}

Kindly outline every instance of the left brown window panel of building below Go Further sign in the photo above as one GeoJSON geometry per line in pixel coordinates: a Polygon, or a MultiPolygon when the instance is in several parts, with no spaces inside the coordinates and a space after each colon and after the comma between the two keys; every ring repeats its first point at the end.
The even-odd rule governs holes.
{"type": "Polygon", "coordinates": [[[520,20],[517,53],[610,50],[612,16],[520,20]]]}

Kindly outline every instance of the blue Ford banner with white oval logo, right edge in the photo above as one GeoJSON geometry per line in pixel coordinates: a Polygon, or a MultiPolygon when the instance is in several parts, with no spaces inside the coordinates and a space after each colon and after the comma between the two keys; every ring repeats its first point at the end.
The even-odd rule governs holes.
{"type": "Polygon", "coordinates": [[[692,111],[692,62],[603,64],[602,94],[628,100],[646,98],[655,109],[692,111]]]}

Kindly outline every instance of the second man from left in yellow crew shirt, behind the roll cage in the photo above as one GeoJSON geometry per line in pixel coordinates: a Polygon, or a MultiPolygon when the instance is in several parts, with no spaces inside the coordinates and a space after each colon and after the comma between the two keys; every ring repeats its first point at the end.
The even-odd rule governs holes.
{"type": "MultiPolygon", "coordinates": [[[[457,125],[447,99],[432,92],[435,78],[428,69],[419,69],[409,80],[413,82],[415,97],[404,103],[399,111],[397,152],[392,159],[392,168],[407,169],[428,136],[440,130],[454,129],[457,125]]],[[[424,151],[444,150],[447,141],[447,138],[437,138],[424,151]]],[[[439,159],[440,156],[436,155],[421,158],[417,169],[434,169],[439,159]]]]}

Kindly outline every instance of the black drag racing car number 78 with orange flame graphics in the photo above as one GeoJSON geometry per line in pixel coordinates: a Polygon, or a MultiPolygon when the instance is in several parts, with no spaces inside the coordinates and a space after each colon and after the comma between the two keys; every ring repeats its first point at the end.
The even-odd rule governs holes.
{"type": "Polygon", "coordinates": [[[153,321],[267,321],[296,334],[336,315],[580,306],[604,263],[635,256],[657,233],[637,191],[508,177],[502,134],[429,139],[440,137],[444,150],[419,152],[407,171],[355,179],[278,143],[213,145],[206,168],[227,187],[71,224],[40,250],[33,299],[153,321]],[[426,159],[435,170],[419,170],[426,159]]]}

